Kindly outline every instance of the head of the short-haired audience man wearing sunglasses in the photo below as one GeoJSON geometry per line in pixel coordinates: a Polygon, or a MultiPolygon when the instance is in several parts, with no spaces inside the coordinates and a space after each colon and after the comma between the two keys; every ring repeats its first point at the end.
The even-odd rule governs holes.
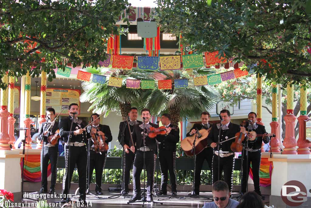
{"type": "Polygon", "coordinates": [[[219,208],[225,208],[229,203],[230,191],[225,181],[216,181],[212,186],[213,199],[219,208]]]}

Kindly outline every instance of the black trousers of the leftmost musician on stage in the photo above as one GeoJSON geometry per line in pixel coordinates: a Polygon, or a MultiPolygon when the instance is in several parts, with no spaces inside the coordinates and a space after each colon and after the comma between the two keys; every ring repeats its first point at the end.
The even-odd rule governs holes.
{"type": "Polygon", "coordinates": [[[43,145],[41,151],[41,174],[42,187],[44,191],[48,191],[48,166],[51,164],[51,186],[50,189],[55,190],[57,163],[58,163],[58,146],[47,147],[43,145]]]}

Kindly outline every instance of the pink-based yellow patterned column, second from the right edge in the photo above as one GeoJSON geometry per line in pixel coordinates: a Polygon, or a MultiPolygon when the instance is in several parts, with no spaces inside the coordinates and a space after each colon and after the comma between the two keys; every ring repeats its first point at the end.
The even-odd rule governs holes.
{"type": "Polygon", "coordinates": [[[297,141],[295,138],[295,120],[294,116],[294,90],[291,83],[287,84],[287,106],[286,106],[286,115],[284,116],[285,120],[285,138],[283,141],[284,151],[283,154],[297,154],[297,141]]]}

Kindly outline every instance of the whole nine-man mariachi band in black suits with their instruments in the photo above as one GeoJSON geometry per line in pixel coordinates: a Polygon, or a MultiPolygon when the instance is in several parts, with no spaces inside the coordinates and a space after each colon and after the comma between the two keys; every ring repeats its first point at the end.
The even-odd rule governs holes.
{"type": "MultiPolygon", "coordinates": [[[[55,110],[46,110],[48,121],[39,128],[38,139],[43,142],[41,152],[42,187],[40,193],[48,192],[47,167],[51,163],[51,186],[49,193],[55,192],[56,169],[58,161],[58,141],[65,142],[65,174],[63,177],[64,201],[69,193],[72,174],[77,165],[79,175],[79,201],[86,203],[87,187],[89,187],[92,173],[95,168],[95,191],[102,194],[102,173],[107,157],[108,143],[112,141],[109,126],[100,124],[100,115],[92,114],[91,122],[87,124],[79,119],[78,104],[70,104],[68,117],[62,118],[59,124],[55,122],[55,110]],[[58,130],[59,129],[59,130],[58,130]],[[71,129],[71,131],[70,131],[71,129]],[[68,141],[68,139],[70,141],[68,141]],[[53,143],[52,143],[53,141],[53,143]]],[[[161,116],[163,126],[151,123],[149,109],[142,109],[141,119],[137,120],[138,111],[133,107],[128,112],[128,118],[120,122],[118,141],[123,147],[122,164],[122,192],[121,196],[129,193],[130,169],[133,165],[133,196],[129,202],[141,200],[140,176],[145,164],[146,200],[153,201],[152,190],[156,168],[157,153],[160,158],[161,189],[159,195],[167,194],[168,173],[170,176],[172,196],[177,196],[176,186],[176,144],[180,141],[179,128],[171,123],[170,114],[161,116]],[[159,148],[159,149],[158,149],[159,148]]],[[[248,114],[248,122],[244,126],[230,122],[230,112],[220,111],[220,123],[210,124],[210,114],[202,112],[202,123],[195,123],[187,133],[187,138],[181,147],[188,156],[195,155],[194,166],[194,194],[199,195],[200,175],[204,160],[207,160],[211,169],[212,183],[222,176],[232,191],[234,169],[234,152],[242,152],[242,181],[240,194],[247,191],[247,180],[250,163],[253,168],[255,192],[261,195],[259,189],[259,167],[261,161],[262,141],[268,143],[271,136],[265,127],[257,124],[257,115],[248,114]],[[197,140],[197,142],[195,142],[197,140]],[[191,142],[195,144],[193,149],[191,142]],[[187,144],[186,144],[187,143],[187,144]],[[188,145],[189,147],[186,147],[188,145]]]]}

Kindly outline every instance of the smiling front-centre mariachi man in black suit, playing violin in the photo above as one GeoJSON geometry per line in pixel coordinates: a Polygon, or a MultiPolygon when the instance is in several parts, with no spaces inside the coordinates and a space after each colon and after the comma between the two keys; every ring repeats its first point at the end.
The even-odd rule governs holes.
{"type": "Polygon", "coordinates": [[[133,142],[136,146],[131,146],[131,151],[134,152],[136,149],[136,156],[133,165],[133,198],[129,202],[137,201],[141,199],[141,188],[140,188],[140,175],[144,166],[144,152],[145,152],[145,165],[147,172],[147,201],[152,201],[152,188],[154,180],[154,172],[156,167],[156,138],[148,137],[148,130],[150,127],[158,128],[158,125],[150,122],[150,110],[142,109],[141,117],[145,118],[145,130],[143,124],[135,124],[132,133],[133,142]],[[145,147],[143,143],[143,134],[145,132],[145,147]]]}

